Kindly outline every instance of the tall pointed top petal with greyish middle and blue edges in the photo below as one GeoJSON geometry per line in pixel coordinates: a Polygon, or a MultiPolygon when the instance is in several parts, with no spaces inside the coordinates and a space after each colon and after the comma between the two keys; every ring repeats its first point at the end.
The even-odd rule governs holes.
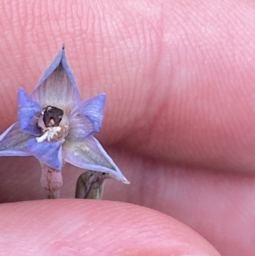
{"type": "Polygon", "coordinates": [[[38,82],[31,98],[43,107],[62,109],[67,115],[81,101],[75,78],[66,61],[64,47],[38,82]]]}

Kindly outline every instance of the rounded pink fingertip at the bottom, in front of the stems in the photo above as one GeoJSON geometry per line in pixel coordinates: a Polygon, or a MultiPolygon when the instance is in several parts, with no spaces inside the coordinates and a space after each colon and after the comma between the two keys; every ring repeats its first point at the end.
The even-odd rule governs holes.
{"type": "Polygon", "coordinates": [[[0,209],[0,255],[219,256],[193,230],[145,207],[59,199],[0,209]]]}

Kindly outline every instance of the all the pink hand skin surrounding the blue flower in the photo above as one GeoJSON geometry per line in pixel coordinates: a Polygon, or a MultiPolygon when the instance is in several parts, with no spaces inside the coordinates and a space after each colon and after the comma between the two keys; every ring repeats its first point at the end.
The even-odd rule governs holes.
{"type": "Polygon", "coordinates": [[[69,199],[36,200],[37,160],[0,158],[0,200],[15,202],[0,206],[0,254],[254,256],[254,13],[246,0],[1,1],[0,132],[65,43],[82,98],[106,93],[98,139],[131,184],[107,181],[122,202],[71,199],[82,170],[66,164],[69,199]]]}

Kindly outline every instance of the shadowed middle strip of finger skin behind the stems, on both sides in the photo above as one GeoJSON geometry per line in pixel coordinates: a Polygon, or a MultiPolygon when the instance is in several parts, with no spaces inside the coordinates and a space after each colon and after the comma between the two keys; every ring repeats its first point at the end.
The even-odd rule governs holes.
{"type": "MultiPolygon", "coordinates": [[[[131,184],[106,180],[103,199],[131,202],[173,216],[205,237],[221,255],[254,256],[253,176],[170,166],[119,149],[108,148],[108,152],[131,184]]],[[[40,164],[33,157],[0,158],[0,166],[0,202],[47,198],[40,187],[40,164]]],[[[61,197],[75,197],[82,172],[65,165],[61,197]]]]}

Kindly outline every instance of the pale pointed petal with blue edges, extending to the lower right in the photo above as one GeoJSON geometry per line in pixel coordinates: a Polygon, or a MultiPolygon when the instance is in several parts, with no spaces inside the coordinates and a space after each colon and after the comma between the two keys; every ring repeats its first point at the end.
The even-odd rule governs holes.
{"type": "Polygon", "coordinates": [[[63,146],[64,160],[83,169],[98,170],[112,174],[116,179],[129,184],[112,158],[94,137],[89,136],[83,140],[69,139],[63,146]]]}

